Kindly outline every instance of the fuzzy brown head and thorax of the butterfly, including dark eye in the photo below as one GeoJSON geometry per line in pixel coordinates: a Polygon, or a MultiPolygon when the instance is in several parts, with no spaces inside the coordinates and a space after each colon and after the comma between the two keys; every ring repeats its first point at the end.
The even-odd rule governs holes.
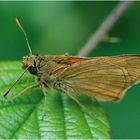
{"type": "Polygon", "coordinates": [[[61,73],[71,64],[49,55],[31,55],[23,57],[22,67],[28,69],[30,74],[37,76],[38,82],[48,88],[62,87],[61,73]]]}

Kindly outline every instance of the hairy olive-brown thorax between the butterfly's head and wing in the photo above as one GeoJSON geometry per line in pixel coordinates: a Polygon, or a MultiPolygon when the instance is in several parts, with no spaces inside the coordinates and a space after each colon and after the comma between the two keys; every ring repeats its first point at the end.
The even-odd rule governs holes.
{"type": "Polygon", "coordinates": [[[63,79],[60,78],[61,73],[65,70],[65,68],[70,65],[67,64],[59,64],[52,57],[48,57],[48,59],[42,58],[40,61],[40,67],[38,72],[38,81],[42,83],[45,87],[49,89],[56,89],[62,92],[66,92],[66,85],[63,79]]]}

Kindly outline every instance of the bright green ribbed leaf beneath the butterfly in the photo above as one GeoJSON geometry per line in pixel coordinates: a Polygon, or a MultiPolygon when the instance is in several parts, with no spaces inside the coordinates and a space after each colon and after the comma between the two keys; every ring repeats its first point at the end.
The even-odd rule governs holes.
{"type": "MultiPolygon", "coordinates": [[[[89,99],[80,98],[88,112],[77,105],[66,95],[50,91],[47,96],[47,110],[42,120],[44,96],[40,89],[32,89],[17,97],[10,103],[3,102],[3,93],[23,72],[19,62],[0,63],[0,138],[110,138],[109,125],[105,112],[89,99]]],[[[32,85],[34,76],[27,80],[29,74],[17,83],[6,98],[32,85]]]]}

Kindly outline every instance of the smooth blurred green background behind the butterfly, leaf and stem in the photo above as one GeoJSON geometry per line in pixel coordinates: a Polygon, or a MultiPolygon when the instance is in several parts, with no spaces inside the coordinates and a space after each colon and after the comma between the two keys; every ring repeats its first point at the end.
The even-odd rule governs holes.
{"type": "MultiPolygon", "coordinates": [[[[19,17],[35,54],[76,55],[118,2],[0,2],[0,61],[21,60],[29,53],[19,17]]],[[[90,56],[140,54],[140,2],[133,3],[109,36],[90,56]]],[[[140,138],[140,84],[120,103],[101,103],[107,112],[112,138],[140,138]]]]}

